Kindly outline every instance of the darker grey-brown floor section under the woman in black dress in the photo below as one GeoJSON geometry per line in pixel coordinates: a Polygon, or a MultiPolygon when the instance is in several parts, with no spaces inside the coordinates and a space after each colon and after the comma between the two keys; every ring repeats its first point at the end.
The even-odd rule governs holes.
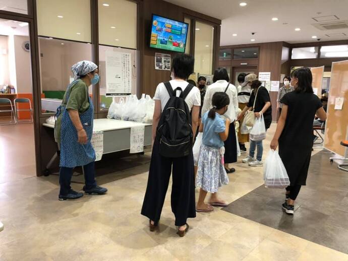
{"type": "Polygon", "coordinates": [[[225,211],[348,253],[348,175],[321,151],[312,156],[307,186],[301,188],[295,215],[280,211],[284,189],[259,186],[225,211]]]}

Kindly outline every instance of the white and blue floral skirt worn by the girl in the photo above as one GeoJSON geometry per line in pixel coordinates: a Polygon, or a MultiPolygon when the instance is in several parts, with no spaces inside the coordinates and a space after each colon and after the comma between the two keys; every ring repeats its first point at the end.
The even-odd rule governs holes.
{"type": "Polygon", "coordinates": [[[228,176],[221,164],[220,149],[202,144],[199,154],[196,186],[204,191],[215,193],[217,189],[228,184],[228,176]]]}

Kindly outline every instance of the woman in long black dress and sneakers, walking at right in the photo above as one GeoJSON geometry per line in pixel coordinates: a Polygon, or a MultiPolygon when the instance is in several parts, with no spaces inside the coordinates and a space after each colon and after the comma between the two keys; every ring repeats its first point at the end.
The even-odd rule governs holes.
{"type": "Polygon", "coordinates": [[[275,150],[279,141],[279,155],[290,179],[282,208],[293,215],[297,195],[301,186],[306,185],[313,147],[313,119],[317,115],[325,120],[326,112],[313,93],[310,69],[295,70],[291,83],[295,91],[285,94],[280,101],[283,107],[270,147],[275,150]]]}

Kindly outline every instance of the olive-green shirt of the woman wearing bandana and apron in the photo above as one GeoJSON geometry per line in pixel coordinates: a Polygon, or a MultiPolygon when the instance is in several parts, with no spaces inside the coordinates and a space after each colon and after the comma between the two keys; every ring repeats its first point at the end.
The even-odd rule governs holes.
{"type": "MultiPolygon", "coordinates": [[[[65,92],[62,105],[66,109],[77,110],[79,114],[84,113],[89,108],[89,97],[88,97],[88,87],[82,81],[76,82],[69,89],[69,100],[67,97],[67,92],[65,92]]],[[[61,144],[61,126],[62,126],[62,115],[59,115],[55,122],[54,138],[56,143],[61,144]]]]}

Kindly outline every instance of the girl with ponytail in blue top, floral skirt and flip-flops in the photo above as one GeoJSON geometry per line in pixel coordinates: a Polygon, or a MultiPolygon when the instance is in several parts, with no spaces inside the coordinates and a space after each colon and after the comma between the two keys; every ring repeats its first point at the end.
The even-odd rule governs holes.
{"type": "MultiPolygon", "coordinates": [[[[216,92],[212,97],[213,108],[202,116],[199,132],[203,132],[199,154],[196,185],[200,187],[197,212],[213,211],[212,206],[226,206],[217,197],[217,189],[228,183],[228,176],[223,166],[223,142],[228,137],[229,120],[220,115],[227,111],[229,97],[224,92],[216,92]],[[207,192],[212,193],[209,204],[204,200],[207,192]]],[[[234,131],[234,130],[233,130],[234,131]]]]}

